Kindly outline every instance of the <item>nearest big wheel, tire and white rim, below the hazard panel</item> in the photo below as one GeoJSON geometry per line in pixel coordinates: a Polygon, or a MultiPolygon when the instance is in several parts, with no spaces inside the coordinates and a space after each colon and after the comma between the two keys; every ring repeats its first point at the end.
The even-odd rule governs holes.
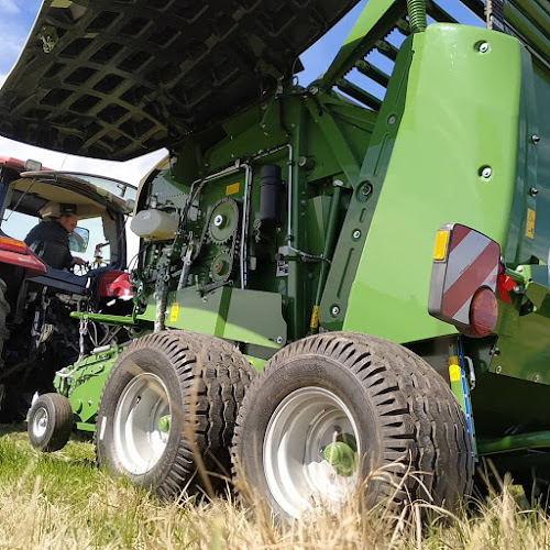
{"type": "Polygon", "coordinates": [[[336,512],[362,481],[367,507],[422,498],[453,508],[472,490],[465,418],[443,378],[402,345],[332,332],[297,341],[240,408],[233,474],[280,518],[336,512]],[[430,494],[427,494],[426,490],[430,494]]]}

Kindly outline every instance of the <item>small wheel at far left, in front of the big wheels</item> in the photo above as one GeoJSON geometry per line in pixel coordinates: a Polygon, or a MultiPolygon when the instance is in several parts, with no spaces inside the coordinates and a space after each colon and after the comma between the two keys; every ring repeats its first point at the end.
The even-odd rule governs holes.
{"type": "Polygon", "coordinates": [[[28,432],[31,444],[41,452],[63,449],[73,430],[73,408],[59,394],[41,395],[29,413],[28,432]]]}

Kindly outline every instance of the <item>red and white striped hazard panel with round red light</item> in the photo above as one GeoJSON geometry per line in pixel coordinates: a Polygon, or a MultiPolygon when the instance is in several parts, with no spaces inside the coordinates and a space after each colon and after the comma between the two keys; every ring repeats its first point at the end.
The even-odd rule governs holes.
{"type": "Polygon", "coordinates": [[[501,248],[488,237],[459,223],[440,228],[433,250],[429,314],[465,329],[470,336],[491,333],[498,317],[494,293],[499,264],[501,248]]]}

